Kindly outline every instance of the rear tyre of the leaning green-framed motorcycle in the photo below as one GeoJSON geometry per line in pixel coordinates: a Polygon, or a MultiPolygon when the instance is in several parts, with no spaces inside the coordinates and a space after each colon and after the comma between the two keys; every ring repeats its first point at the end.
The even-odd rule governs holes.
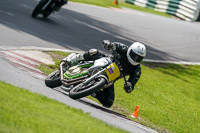
{"type": "Polygon", "coordinates": [[[60,71],[57,70],[49,74],[45,79],[45,84],[50,88],[61,86],[62,82],[60,80],[60,71]]]}

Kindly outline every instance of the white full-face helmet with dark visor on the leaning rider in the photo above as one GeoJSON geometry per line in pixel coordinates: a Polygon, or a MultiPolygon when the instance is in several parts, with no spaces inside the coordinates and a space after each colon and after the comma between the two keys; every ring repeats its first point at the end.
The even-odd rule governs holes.
{"type": "Polygon", "coordinates": [[[128,61],[132,65],[138,65],[146,56],[146,47],[140,42],[133,43],[127,51],[128,61]]]}

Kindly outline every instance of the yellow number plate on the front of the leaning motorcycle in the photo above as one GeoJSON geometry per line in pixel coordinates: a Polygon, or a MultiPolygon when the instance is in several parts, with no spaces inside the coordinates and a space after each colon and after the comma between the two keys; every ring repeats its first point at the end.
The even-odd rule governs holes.
{"type": "Polygon", "coordinates": [[[113,81],[120,76],[120,71],[115,63],[110,64],[106,68],[106,74],[108,75],[109,81],[113,81]]]}

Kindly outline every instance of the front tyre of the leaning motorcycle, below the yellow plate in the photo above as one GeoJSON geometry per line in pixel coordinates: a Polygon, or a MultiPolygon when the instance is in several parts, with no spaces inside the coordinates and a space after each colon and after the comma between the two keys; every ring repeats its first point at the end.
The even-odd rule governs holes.
{"type": "Polygon", "coordinates": [[[72,88],[69,92],[69,97],[72,99],[79,99],[88,95],[91,95],[92,93],[97,92],[98,90],[102,89],[104,85],[106,84],[106,80],[102,77],[95,79],[95,81],[91,81],[88,85],[88,87],[83,87],[83,83],[80,83],[79,85],[72,88]],[[91,83],[93,82],[93,83],[91,83]]]}

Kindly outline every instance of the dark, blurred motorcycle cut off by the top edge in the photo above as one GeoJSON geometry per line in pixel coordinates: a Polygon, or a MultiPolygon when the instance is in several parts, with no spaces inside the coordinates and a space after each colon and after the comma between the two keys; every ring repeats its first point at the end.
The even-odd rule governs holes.
{"type": "Polygon", "coordinates": [[[41,14],[43,18],[47,18],[52,12],[58,11],[63,4],[61,0],[40,0],[32,12],[32,17],[41,14]]]}

